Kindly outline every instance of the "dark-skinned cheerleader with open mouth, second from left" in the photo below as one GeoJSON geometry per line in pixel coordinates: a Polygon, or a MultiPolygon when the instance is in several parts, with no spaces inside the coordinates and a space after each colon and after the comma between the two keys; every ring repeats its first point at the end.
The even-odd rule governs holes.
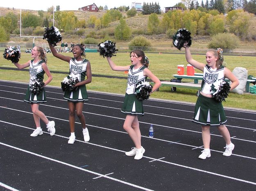
{"type": "Polygon", "coordinates": [[[86,84],[91,83],[92,80],[91,64],[87,59],[82,58],[82,56],[85,57],[84,47],[82,47],[82,45],[74,45],[72,49],[72,53],[74,56],[73,58],[70,56],[64,56],[63,54],[59,54],[51,43],[49,43],[49,46],[53,56],[69,63],[69,74],[73,78],[77,77],[79,79],[79,82],[75,84],[75,87],[78,87],[77,90],[66,90],[64,93],[64,99],[68,101],[69,125],[71,133],[68,144],[73,144],[75,142],[75,114],[77,115],[82,124],[84,141],[88,142],[90,140],[90,136],[88,128],[86,128],[83,107],[84,101],[88,101],[86,84]]]}

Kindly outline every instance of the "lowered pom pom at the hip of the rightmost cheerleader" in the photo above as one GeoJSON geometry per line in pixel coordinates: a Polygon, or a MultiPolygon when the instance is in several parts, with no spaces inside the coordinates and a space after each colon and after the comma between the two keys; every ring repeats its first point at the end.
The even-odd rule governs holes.
{"type": "Polygon", "coordinates": [[[228,97],[230,90],[230,85],[226,81],[215,81],[211,85],[211,94],[216,101],[222,102],[225,101],[225,98],[228,97]]]}

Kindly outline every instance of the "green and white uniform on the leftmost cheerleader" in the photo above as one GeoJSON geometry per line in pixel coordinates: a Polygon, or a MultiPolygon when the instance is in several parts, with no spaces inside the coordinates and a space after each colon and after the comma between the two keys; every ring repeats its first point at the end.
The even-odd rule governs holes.
{"type": "MultiPolygon", "coordinates": [[[[29,75],[30,75],[30,81],[33,79],[39,79],[40,81],[43,81],[43,75],[45,74],[45,71],[42,68],[42,63],[45,63],[44,60],[40,60],[37,63],[34,63],[34,60],[31,60],[29,63],[29,75]]],[[[28,103],[43,103],[46,102],[46,95],[45,95],[45,89],[38,94],[33,94],[29,90],[29,86],[27,88],[26,96],[24,101],[27,101],[28,103]]]]}

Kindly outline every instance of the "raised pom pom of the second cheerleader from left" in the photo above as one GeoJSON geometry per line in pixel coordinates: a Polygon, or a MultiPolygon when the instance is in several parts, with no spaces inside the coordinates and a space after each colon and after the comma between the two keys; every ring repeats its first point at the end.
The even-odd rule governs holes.
{"type": "Polygon", "coordinates": [[[52,46],[56,46],[62,40],[61,33],[56,27],[47,27],[43,34],[43,39],[46,39],[52,46]]]}

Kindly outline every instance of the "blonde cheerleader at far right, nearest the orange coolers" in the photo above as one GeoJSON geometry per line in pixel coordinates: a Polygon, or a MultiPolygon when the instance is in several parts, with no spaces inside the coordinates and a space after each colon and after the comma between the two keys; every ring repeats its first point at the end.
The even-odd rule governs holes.
{"type": "MultiPolygon", "coordinates": [[[[230,156],[235,146],[233,143],[231,143],[229,130],[224,125],[227,119],[221,103],[223,99],[219,99],[221,95],[226,96],[227,93],[219,92],[220,96],[216,97],[213,95],[212,89],[214,89],[213,83],[224,81],[225,77],[232,82],[230,85],[230,90],[236,88],[236,86],[239,84],[239,81],[236,76],[234,76],[232,72],[227,69],[227,67],[222,65],[224,61],[222,49],[209,49],[206,52],[207,64],[205,65],[204,63],[199,63],[192,58],[190,54],[190,48],[186,44],[184,44],[184,48],[186,49],[187,62],[198,70],[204,72],[201,91],[195,105],[195,114],[193,118],[193,121],[202,125],[204,150],[202,151],[202,154],[199,155],[199,159],[206,159],[206,157],[211,157],[210,126],[217,126],[217,129],[226,142],[226,150],[224,151],[223,155],[230,156]]],[[[222,85],[223,83],[219,84],[222,85]]],[[[229,91],[229,87],[228,89],[222,87],[219,88],[229,91]]]]}

